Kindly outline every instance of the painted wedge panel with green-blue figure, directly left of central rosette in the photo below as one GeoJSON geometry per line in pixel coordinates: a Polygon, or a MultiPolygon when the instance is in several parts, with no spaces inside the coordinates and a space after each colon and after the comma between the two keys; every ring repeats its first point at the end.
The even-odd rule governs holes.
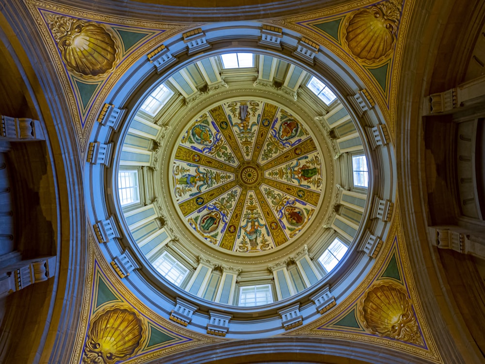
{"type": "Polygon", "coordinates": [[[178,202],[196,196],[234,178],[232,173],[213,170],[187,162],[174,163],[172,173],[178,202]]]}

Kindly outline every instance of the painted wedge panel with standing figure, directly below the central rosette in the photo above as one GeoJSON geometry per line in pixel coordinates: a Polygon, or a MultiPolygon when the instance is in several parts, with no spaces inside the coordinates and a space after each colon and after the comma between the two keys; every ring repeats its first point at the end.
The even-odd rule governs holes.
{"type": "Polygon", "coordinates": [[[274,245],[268,239],[269,234],[254,193],[250,193],[244,206],[236,246],[239,251],[264,251],[274,248],[274,245]]]}

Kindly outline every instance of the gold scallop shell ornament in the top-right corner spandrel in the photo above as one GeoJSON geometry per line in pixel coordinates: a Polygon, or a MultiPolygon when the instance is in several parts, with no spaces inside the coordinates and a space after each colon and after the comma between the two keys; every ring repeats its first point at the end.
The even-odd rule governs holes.
{"type": "Polygon", "coordinates": [[[392,1],[360,9],[346,22],[344,43],[358,61],[379,63],[394,49],[399,18],[399,8],[392,1]]]}

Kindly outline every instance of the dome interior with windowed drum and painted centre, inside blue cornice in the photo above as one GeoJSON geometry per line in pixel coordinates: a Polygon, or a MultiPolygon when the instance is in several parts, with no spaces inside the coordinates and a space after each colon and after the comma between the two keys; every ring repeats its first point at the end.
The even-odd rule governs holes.
{"type": "MultiPolygon", "coordinates": [[[[367,187],[341,187],[349,181],[351,156],[336,161],[339,149],[324,125],[339,121],[344,146],[364,160],[365,152],[334,88],[288,60],[246,54],[250,67],[226,69],[217,54],[156,80],[129,117],[113,168],[113,180],[137,170],[153,181],[152,203],[140,206],[137,199],[121,210],[127,242],[142,269],[158,279],[157,289],[175,285],[233,309],[245,305],[240,290],[252,285],[269,289],[267,301],[251,304],[258,306],[323,284],[321,278],[356,254],[354,238],[369,208],[367,187]],[[207,85],[204,74],[212,75],[207,85]],[[287,86],[274,87],[271,78],[287,86]],[[151,103],[157,98],[159,107],[151,103]],[[328,110],[329,121],[314,109],[328,110]],[[147,136],[153,142],[146,139],[138,154],[147,136]],[[136,165],[146,164],[149,154],[148,168],[136,165]],[[342,199],[360,206],[344,206],[342,199]],[[147,216],[160,217],[146,223],[147,216]],[[179,267],[177,278],[168,261],[179,267]],[[294,283],[285,282],[288,274],[294,283]]],[[[118,180],[114,188],[120,186],[118,180]]]]}

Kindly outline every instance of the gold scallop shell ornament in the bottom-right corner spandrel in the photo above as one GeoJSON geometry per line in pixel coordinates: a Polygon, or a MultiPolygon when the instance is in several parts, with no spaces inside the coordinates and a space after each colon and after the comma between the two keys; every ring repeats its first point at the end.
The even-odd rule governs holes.
{"type": "Polygon", "coordinates": [[[423,345],[411,300],[404,288],[386,282],[374,285],[359,305],[363,326],[373,334],[423,345]]]}

